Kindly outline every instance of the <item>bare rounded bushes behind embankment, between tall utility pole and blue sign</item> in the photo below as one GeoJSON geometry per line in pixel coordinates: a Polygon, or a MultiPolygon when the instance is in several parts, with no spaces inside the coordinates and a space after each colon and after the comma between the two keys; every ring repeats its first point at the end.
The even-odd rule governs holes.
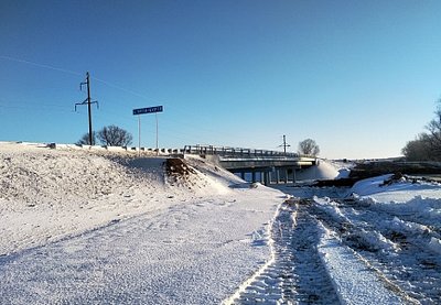
{"type": "Polygon", "coordinates": [[[89,143],[89,133],[85,133],[76,144],[79,145],[96,145],[97,140],[101,145],[106,146],[128,146],[131,144],[132,135],[127,130],[117,126],[108,126],[100,129],[98,132],[92,133],[92,143],[89,143]]]}

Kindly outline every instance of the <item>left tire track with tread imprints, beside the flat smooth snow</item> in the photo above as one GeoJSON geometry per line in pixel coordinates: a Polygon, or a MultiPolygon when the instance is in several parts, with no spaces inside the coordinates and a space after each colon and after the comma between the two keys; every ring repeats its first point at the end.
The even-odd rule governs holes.
{"type": "Polygon", "coordinates": [[[304,205],[283,205],[272,222],[273,260],[228,304],[338,304],[319,257],[316,220],[304,205]]]}

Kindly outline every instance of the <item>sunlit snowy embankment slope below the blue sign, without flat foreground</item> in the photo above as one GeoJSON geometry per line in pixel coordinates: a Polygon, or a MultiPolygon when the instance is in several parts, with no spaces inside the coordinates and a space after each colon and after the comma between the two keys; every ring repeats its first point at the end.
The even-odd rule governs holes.
{"type": "Polygon", "coordinates": [[[178,197],[226,194],[229,184],[240,182],[203,160],[181,161],[186,172],[168,162],[133,153],[0,144],[0,254],[162,209],[178,197]]]}

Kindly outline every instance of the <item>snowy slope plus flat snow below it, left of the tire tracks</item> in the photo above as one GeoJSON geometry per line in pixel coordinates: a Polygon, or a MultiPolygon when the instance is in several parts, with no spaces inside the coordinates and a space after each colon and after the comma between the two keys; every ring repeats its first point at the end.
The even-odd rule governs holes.
{"type": "Polygon", "coordinates": [[[0,144],[1,304],[220,303],[283,194],[201,159],[0,144]]]}

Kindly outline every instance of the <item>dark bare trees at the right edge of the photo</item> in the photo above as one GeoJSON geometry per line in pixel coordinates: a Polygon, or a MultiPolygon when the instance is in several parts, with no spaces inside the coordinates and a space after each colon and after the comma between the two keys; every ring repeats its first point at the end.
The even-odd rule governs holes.
{"type": "Polygon", "coordinates": [[[438,100],[435,117],[412,141],[401,150],[408,161],[441,161],[441,99],[438,100]]]}

